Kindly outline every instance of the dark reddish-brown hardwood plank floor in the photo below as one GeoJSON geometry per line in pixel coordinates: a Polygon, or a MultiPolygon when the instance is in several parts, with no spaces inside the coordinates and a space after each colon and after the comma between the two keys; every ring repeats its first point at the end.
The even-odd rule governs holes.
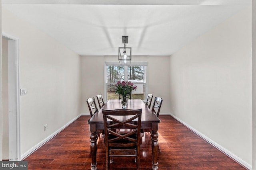
{"type": "MultiPolygon", "coordinates": [[[[90,169],[90,132],[87,120],[82,116],[48,141],[25,160],[28,169],[84,170],[90,169]]],[[[170,115],[160,115],[158,154],[159,170],[237,170],[240,164],[198,137],[170,115]]],[[[146,133],[140,150],[141,169],[152,167],[150,135],[146,133]]],[[[98,139],[97,168],[105,169],[104,139],[98,139]]],[[[134,158],[113,159],[110,166],[117,170],[136,169],[134,158]]]]}

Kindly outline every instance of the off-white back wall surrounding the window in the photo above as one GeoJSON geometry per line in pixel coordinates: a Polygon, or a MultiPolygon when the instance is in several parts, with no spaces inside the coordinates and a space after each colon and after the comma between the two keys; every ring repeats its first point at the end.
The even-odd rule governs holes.
{"type": "MultiPolygon", "coordinates": [[[[82,75],[82,110],[89,114],[86,100],[104,94],[104,64],[118,62],[118,56],[83,56],[81,57],[82,75]],[[90,74],[88,74],[90,73],[90,74]]],[[[169,63],[170,57],[134,56],[132,62],[148,61],[148,93],[162,97],[161,113],[170,113],[169,63]]]]}

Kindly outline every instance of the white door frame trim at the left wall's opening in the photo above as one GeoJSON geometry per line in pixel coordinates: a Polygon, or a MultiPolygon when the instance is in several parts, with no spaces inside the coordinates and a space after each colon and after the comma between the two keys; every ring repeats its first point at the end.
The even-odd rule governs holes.
{"type": "Polygon", "coordinates": [[[4,32],[2,38],[8,39],[9,160],[18,161],[21,159],[19,39],[4,32]]]}

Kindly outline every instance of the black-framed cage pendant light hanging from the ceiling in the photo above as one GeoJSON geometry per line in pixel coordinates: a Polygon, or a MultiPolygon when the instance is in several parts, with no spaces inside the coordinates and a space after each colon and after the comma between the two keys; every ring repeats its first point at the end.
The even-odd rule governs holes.
{"type": "Polygon", "coordinates": [[[118,48],[118,61],[121,66],[129,66],[132,61],[132,48],[126,47],[128,44],[128,36],[122,36],[124,47],[118,48]]]}

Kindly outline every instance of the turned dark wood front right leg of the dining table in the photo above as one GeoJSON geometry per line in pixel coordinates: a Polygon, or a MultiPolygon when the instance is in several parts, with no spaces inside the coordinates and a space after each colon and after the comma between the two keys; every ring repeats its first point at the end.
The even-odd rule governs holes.
{"type": "Polygon", "coordinates": [[[152,131],[151,133],[151,140],[152,140],[152,155],[153,155],[153,162],[152,162],[152,170],[158,170],[158,162],[157,162],[157,154],[158,154],[158,132],[152,131]]]}

